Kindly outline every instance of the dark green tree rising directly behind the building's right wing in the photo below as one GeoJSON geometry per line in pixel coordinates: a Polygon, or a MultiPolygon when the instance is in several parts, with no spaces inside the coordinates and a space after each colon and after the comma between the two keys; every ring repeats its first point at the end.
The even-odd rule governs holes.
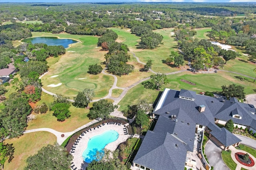
{"type": "Polygon", "coordinates": [[[230,84],[229,86],[221,86],[222,94],[227,98],[235,97],[239,99],[245,98],[244,87],[236,84],[230,84]]]}

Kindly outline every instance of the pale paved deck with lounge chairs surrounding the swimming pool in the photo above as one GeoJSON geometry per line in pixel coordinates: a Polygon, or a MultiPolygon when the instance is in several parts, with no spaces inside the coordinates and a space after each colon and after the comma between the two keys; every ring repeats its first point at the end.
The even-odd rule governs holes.
{"type": "Polygon", "coordinates": [[[82,153],[86,149],[88,141],[90,140],[91,137],[100,135],[100,134],[104,133],[104,131],[115,130],[118,132],[118,134],[119,134],[118,139],[116,139],[116,141],[114,141],[112,143],[107,144],[105,147],[105,149],[108,149],[111,151],[116,150],[116,148],[118,147],[118,145],[120,143],[126,141],[130,137],[130,135],[124,134],[123,128],[125,128],[124,125],[116,125],[116,124],[114,124],[114,125],[108,124],[107,125],[107,123],[105,123],[105,125],[101,125],[101,127],[99,127],[99,128],[97,128],[97,127],[95,129],[92,128],[92,131],[89,130],[89,132],[86,132],[86,134],[84,134],[84,136],[80,135],[80,137],[82,137],[82,138],[77,143],[77,145],[75,145],[76,148],[74,150],[74,153],[71,153],[72,150],[70,151],[70,154],[72,154],[72,156],[73,156],[72,162],[74,164],[74,167],[72,167],[72,168],[73,169],[77,168],[79,170],[82,168],[82,164],[84,163],[84,160],[82,158],[82,153]]]}

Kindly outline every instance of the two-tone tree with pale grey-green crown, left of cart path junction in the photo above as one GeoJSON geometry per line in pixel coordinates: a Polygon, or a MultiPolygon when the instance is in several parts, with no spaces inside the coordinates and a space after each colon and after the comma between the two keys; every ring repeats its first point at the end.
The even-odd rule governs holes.
{"type": "Polygon", "coordinates": [[[80,108],[88,108],[88,104],[94,96],[95,93],[93,89],[85,88],[82,92],[78,92],[77,96],[74,97],[73,105],[80,108]]]}

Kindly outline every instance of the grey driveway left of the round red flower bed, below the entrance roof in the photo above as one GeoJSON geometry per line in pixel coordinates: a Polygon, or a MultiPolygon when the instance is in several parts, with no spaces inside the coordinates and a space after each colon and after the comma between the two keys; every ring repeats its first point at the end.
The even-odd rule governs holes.
{"type": "Polygon", "coordinates": [[[230,170],[221,158],[221,151],[211,140],[206,143],[204,153],[207,156],[210,166],[216,170],[230,170]]]}

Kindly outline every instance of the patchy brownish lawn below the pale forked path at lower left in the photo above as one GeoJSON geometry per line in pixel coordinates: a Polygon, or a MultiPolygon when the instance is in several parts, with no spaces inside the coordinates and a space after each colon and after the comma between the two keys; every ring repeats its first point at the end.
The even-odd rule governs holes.
{"type": "Polygon", "coordinates": [[[49,132],[33,132],[22,135],[19,138],[6,139],[4,143],[13,144],[14,158],[8,163],[6,160],[4,169],[6,170],[23,170],[26,166],[26,159],[34,155],[42,147],[48,144],[54,144],[57,141],[55,135],[49,132]]]}

